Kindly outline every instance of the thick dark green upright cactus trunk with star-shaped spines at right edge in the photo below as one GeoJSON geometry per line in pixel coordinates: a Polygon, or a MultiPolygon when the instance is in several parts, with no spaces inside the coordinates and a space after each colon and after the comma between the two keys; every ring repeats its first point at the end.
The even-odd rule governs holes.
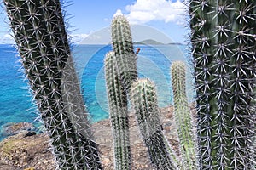
{"type": "Polygon", "coordinates": [[[201,169],[253,168],[255,8],[190,0],[201,169]]]}

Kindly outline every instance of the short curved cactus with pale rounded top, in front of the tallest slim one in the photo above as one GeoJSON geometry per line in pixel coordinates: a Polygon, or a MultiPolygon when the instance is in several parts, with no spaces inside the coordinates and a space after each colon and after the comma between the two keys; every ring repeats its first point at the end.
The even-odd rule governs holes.
{"type": "Polygon", "coordinates": [[[170,146],[166,143],[161,127],[153,82],[140,79],[132,84],[131,106],[136,112],[140,132],[154,167],[160,170],[176,170],[177,164],[171,159],[172,155],[168,152],[170,146]]]}

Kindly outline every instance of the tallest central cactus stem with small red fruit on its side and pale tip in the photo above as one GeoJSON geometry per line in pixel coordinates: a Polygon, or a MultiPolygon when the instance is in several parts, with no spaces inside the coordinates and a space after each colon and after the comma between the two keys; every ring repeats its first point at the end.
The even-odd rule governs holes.
{"type": "Polygon", "coordinates": [[[129,91],[131,83],[137,79],[137,56],[134,54],[131,28],[125,16],[118,15],[113,18],[111,37],[119,74],[125,90],[129,91]]]}

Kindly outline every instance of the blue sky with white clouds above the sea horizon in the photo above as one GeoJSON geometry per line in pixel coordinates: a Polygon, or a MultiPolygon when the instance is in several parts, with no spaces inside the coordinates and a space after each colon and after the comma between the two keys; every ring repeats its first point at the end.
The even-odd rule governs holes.
{"type": "MultiPolygon", "coordinates": [[[[67,6],[70,34],[84,38],[110,25],[114,14],[125,14],[131,24],[152,26],[173,42],[184,42],[185,5],[179,0],[80,0],[67,6]]],[[[0,10],[0,43],[9,39],[5,12],[0,10]]]]}

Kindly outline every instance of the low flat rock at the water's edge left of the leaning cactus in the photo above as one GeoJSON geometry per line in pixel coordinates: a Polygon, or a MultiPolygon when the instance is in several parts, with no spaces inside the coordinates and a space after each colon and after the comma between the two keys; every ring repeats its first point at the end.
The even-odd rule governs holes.
{"type": "Polygon", "coordinates": [[[19,123],[9,123],[3,125],[3,134],[6,136],[11,136],[20,133],[21,131],[28,131],[34,129],[32,123],[29,122],[19,122],[19,123]]]}

